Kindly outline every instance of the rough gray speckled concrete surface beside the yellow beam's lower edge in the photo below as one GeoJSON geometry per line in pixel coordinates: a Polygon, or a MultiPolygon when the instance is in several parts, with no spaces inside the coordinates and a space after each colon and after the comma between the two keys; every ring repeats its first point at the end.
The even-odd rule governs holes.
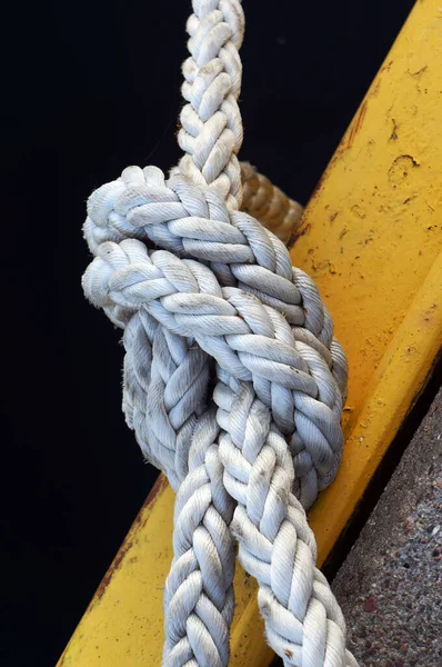
{"type": "Polygon", "coordinates": [[[333,590],[361,667],[442,667],[442,389],[333,590]]]}

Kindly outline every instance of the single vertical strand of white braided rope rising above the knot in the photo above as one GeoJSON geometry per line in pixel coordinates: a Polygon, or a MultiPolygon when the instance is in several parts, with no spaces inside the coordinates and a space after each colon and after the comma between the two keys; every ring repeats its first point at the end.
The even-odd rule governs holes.
{"type": "Polygon", "coordinates": [[[177,170],[191,182],[217,190],[230,209],[237,209],[242,198],[237,158],[242,143],[238,50],[244,17],[238,0],[194,0],[192,7],[187,24],[190,58],[182,66],[181,89],[188,104],[182,108],[178,135],[185,155],[177,170]]]}

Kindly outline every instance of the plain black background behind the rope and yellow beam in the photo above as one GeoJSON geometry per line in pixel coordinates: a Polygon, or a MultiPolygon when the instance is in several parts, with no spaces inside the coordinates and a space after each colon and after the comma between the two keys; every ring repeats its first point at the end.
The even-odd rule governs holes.
{"type": "MultiPolygon", "coordinates": [[[[57,661],[157,476],[120,410],[120,332],[82,296],[81,225],[96,187],[180,155],[189,4],[16,3],[2,21],[8,667],[57,661]]],[[[243,4],[240,157],[304,203],[413,2],[243,4]]]]}

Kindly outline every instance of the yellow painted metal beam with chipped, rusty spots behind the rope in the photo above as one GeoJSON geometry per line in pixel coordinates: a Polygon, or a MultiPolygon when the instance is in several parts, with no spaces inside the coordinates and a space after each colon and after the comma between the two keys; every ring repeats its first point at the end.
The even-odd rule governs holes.
{"type": "MultiPolygon", "coordinates": [[[[442,12],[416,2],[307,207],[293,263],[318,281],[350,362],[345,454],[310,514],[323,563],[442,344],[442,12]]],[[[173,494],[160,479],[59,667],[160,665],[173,494]]],[[[231,665],[267,666],[238,568],[231,665]]]]}

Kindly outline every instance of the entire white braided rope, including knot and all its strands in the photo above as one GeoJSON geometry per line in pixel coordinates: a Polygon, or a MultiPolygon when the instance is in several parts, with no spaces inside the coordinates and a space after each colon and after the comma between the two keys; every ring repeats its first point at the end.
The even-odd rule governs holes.
{"type": "Polygon", "coordinates": [[[305,516],[341,459],[345,357],[313,281],[245,212],[284,239],[299,217],[237,159],[239,1],[194,0],[188,32],[184,156],[168,180],[125,169],[84,223],[84,292],[124,330],[127,422],[177,491],[163,665],[228,665],[238,541],[284,664],[354,667],[305,516]]]}

